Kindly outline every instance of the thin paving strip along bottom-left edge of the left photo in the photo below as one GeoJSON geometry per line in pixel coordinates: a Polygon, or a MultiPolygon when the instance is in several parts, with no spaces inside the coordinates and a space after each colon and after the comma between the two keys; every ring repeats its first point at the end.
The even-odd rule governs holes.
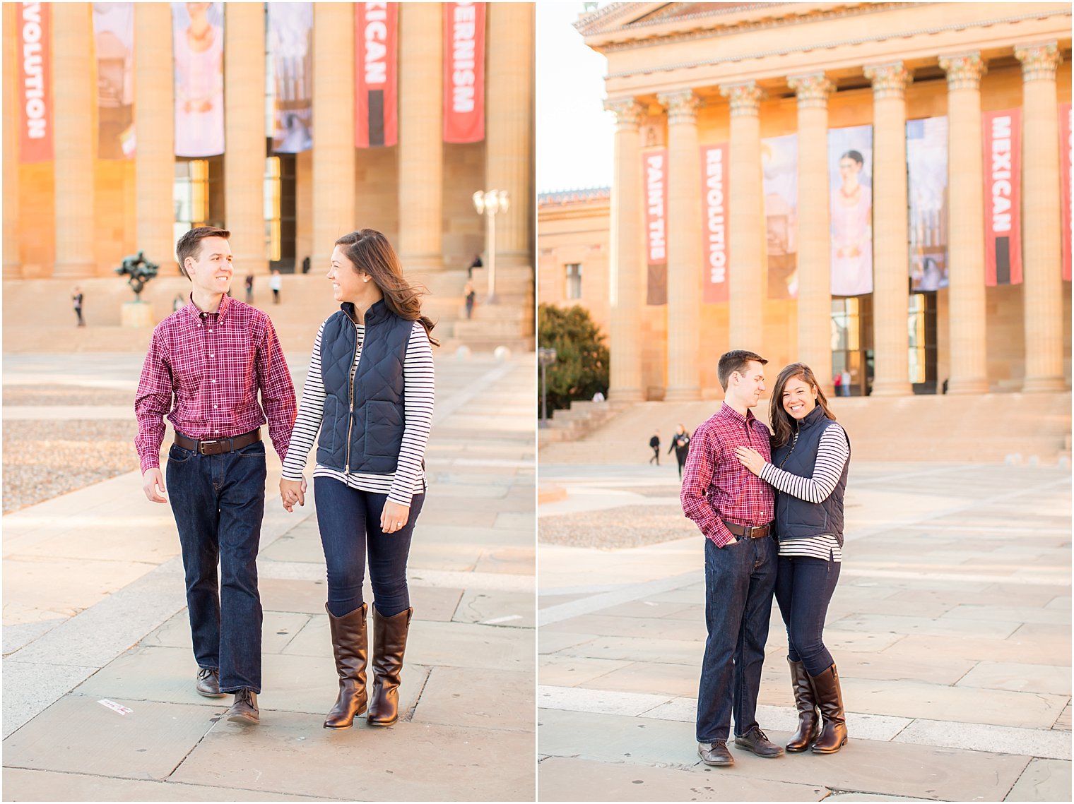
{"type": "MultiPolygon", "coordinates": [[[[142,781],[78,773],[3,771],[4,801],[220,801],[219,788],[174,781],[142,781]]],[[[228,790],[229,801],[337,801],[262,790],[228,790]]]]}

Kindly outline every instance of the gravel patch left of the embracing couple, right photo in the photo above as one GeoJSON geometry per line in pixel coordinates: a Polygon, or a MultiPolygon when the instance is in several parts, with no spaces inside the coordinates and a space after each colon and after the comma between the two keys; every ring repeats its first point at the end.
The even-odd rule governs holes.
{"type": "Polygon", "coordinates": [[[698,535],[697,526],[683,516],[678,505],[623,506],[604,511],[541,516],[537,521],[538,541],[570,547],[641,547],[698,535]]]}

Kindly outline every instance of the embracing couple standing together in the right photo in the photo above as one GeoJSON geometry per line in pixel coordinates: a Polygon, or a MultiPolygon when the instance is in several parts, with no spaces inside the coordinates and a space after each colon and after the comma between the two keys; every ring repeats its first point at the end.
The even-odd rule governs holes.
{"type": "Polygon", "coordinates": [[[842,561],[850,439],[804,363],[780,371],[769,432],[751,410],[765,391],[766,363],[742,350],[721,356],[724,401],[694,433],[680,494],[683,511],[706,537],[708,639],[697,742],[708,765],[735,763],[727,748],[732,712],[736,746],[783,756],[756,719],[773,594],[787,628],[798,710],[786,749],[833,754],[846,744],[824,619],[842,561]]]}

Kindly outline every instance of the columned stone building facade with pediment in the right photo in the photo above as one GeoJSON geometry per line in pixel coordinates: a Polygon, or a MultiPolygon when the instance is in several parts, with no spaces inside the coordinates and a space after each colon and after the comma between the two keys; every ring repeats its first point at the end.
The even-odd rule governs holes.
{"type": "Polygon", "coordinates": [[[1069,4],[614,3],[577,28],[608,58],[614,175],[610,201],[542,200],[540,298],[571,303],[565,283],[545,277],[566,277],[568,257],[579,263],[583,302],[607,264],[608,304],[594,309],[598,319],[607,309],[611,398],[719,396],[715,359],[727,349],[757,351],[777,367],[803,361],[829,388],[845,369],[855,394],[1069,388],[1059,119],[1071,99],[1069,4]],[[1000,109],[1017,109],[1021,120],[1022,281],[987,286],[986,244],[996,242],[985,235],[983,115],[1000,109]],[[927,138],[940,130],[929,123],[935,118],[946,121],[946,167],[932,177],[944,185],[934,192],[944,215],[918,220],[913,187],[908,196],[908,131],[927,138]],[[871,127],[871,150],[832,156],[830,131],[851,127],[871,127]],[[772,211],[779,198],[766,160],[772,138],[789,134],[797,209],[788,215],[772,211]],[[705,184],[714,163],[729,186],[705,184]],[[844,175],[837,166],[855,173],[862,163],[871,287],[839,295],[833,254],[858,249],[833,246],[842,224],[831,209],[842,213],[829,199],[844,175]],[[713,188],[727,190],[719,208],[707,196],[713,188]],[[603,204],[607,251],[601,235],[589,235],[603,204]],[[566,253],[571,216],[587,229],[577,244],[596,260],[586,262],[577,244],[566,253]],[[790,235],[781,234],[784,224],[790,235]],[[942,263],[942,281],[912,276],[915,247],[931,259],[926,273],[942,263]],[[792,251],[782,288],[773,271],[792,251]],[[713,266],[724,301],[709,295],[713,266]]]}

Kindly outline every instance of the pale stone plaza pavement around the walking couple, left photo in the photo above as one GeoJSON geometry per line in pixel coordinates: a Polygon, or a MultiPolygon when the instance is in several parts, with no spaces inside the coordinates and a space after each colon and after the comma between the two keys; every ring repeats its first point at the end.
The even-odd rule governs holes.
{"type": "MultiPolygon", "coordinates": [[[[288,355],[300,391],[307,360],[288,355]]],[[[441,353],[436,365],[400,722],[321,726],[337,685],[313,484],[286,513],[272,450],[261,725],[218,721],[230,697],[193,689],[170,508],[131,471],[3,517],[4,800],[533,800],[535,360],[441,353]]],[[[5,355],[3,381],[133,400],[140,366],[133,354],[5,355]]],[[[4,426],[132,415],[19,408],[4,426]]]]}

